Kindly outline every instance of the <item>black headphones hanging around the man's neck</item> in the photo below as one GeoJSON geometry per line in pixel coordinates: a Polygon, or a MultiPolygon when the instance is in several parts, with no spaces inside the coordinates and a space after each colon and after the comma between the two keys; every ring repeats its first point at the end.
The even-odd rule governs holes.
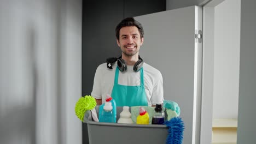
{"type": "MultiPolygon", "coordinates": [[[[122,56],[120,56],[119,58],[116,58],[116,57],[107,58],[107,61],[106,61],[107,62],[107,68],[113,69],[112,65],[116,61],[117,61],[118,69],[120,71],[123,72],[123,71],[127,70],[126,62],[124,61],[124,59],[122,59],[122,56]]],[[[143,59],[139,56],[139,60],[133,65],[133,71],[138,72],[142,68],[143,63],[144,63],[143,59]]]]}

